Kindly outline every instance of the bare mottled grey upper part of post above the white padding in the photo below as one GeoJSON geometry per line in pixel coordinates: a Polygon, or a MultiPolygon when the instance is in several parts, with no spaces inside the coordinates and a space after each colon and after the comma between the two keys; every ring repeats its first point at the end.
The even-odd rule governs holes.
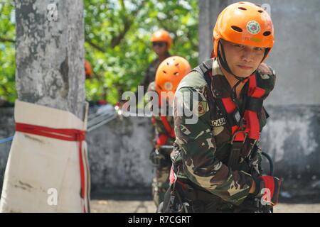
{"type": "Polygon", "coordinates": [[[83,118],[84,26],[81,0],[16,1],[18,99],[83,118]]]}

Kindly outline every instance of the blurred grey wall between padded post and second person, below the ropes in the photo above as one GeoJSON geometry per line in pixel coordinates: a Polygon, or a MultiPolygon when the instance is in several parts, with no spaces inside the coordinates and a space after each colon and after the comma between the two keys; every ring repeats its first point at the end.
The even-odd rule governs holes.
{"type": "Polygon", "coordinates": [[[88,133],[92,192],[151,193],[153,132],[150,118],[131,117],[88,133]]]}

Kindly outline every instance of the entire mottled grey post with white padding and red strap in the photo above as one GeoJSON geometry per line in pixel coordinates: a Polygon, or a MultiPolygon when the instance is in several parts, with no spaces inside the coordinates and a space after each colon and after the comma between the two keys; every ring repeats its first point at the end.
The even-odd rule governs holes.
{"type": "Polygon", "coordinates": [[[83,23],[82,0],[16,1],[19,100],[0,212],[90,211],[83,23]]]}

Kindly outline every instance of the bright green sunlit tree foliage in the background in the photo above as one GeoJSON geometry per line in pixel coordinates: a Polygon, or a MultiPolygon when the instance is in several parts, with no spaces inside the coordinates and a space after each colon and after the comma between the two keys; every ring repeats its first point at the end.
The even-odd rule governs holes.
{"type": "MultiPolygon", "coordinates": [[[[0,6],[0,96],[14,101],[14,7],[9,0],[4,2],[0,6]]],[[[149,39],[160,28],[174,40],[171,55],[186,57],[195,67],[198,1],[85,0],[85,58],[95,74],[85,82],[87,100],[115,103],[122,92],[136,91],[156,57],[149,39]]]]}

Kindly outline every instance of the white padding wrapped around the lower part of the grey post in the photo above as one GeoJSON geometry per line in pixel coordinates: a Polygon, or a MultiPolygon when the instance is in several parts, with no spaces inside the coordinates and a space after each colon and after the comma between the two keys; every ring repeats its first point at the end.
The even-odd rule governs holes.
{"type": "MultiPolygon", "coordinates": [[[[23,101],[16,101],[14,116],[17,123],[86,130],[86,123],[70,112],[23,101]]],[[[6,165],[0,211],[82,212],[84,206],[88,211],[90,173],[85,141],[82,159],[84,200],[80,197],[79,142],[16,132],[6,165]]]]}

